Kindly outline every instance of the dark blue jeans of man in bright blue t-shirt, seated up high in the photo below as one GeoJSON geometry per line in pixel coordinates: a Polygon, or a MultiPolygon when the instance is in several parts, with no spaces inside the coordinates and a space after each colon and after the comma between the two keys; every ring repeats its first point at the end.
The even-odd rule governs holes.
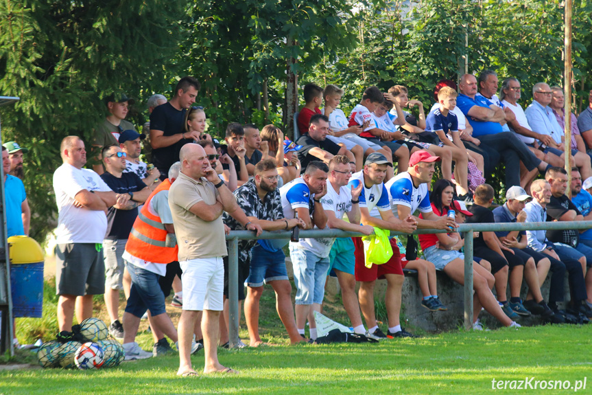
{"type": "Polygon", "coordinates": [[[495,135],[477,137],[481,146],[485,145],[496,150],[506,165],[506,188],[520,185],[520,161],[530,171],[534,170],[541,159],[538,159],[519,139],[516,133],[501,132],[495,135]]]}

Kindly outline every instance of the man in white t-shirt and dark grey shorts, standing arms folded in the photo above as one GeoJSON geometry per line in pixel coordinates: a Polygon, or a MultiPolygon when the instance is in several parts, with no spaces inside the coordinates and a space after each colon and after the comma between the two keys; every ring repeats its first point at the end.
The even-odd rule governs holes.
{"type": "Polygon", "coordinates": [[[115,194],[86,164],[84,142],[68,136],[60,144],[64,162],[54,172],[58,204],[56,229],[56,293],[60,332],[72,330],[74,306],[82,322],[93,315],[93,295],[105,292],[102,243],[107,232],[106,210],[124,205],[129,194],[115,194]],[[78,303],[75,303],[78,299],[78,303]]]}

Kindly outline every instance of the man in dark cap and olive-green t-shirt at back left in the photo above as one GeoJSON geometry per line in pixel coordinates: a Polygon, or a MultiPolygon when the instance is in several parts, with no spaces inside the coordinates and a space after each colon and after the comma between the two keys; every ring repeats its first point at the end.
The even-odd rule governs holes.
{"type": "Polygon", "coordinates": [[[93,134],[95,141],[93,142],[93,153],[97,153],[93,170],[101,175],[105,171],[103,168],[101,151],[106,146],[118,146],[119,135],[128,129],[135,130],[131,122],[126,121],[128,116],[128,106],[134,104],[134,100],[128,98],[125,94],[118,96],[109,95],[104,100],[107,106],[109,115],[97,126],[95,126],[93,134]]]}

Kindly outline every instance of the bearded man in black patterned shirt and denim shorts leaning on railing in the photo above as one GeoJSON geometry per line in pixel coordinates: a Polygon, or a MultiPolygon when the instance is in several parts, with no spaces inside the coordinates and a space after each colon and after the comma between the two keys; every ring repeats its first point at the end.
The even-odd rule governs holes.
{"type": "MultiPolygon", "coordinates": [[[[254,178],[235,190],[239,207],[244,210],[247,218],[262,229],[286,230],[293,227],[305,228],[303,220],[283,218],[281,196],[277,189],[279,175],[276,165],[270,159],[264,159],[254,168],[254,178]]],[[[224,214],[224,223],[232,230],[242,230],[237,221],[224,214]]],[[[290,341],[298,343],[303,338],[296,330],[294,306],[292,306],[292,286],[289,283],[285,268],[285,255],[282,247],[285,240],[239,240],[239,300],[245,300],[244,282],[248,286],[245,300],[245,317],[249,330],[250,346],[257,347],[261,343],[259,337],[259,299],[263,293],[263,284],[270,284],[276,292],[278,314],[283,322],[290,341]],[[241,297],[242,296],[242,297],[241,297]]],[[[228,261],[224,260],[224,295],[228,297],[228,261]]],[[[224,305],[224,312],[227,311],[224,305]]],[[[221,327],[222,328],[222,327],[221,327]]],[[[222,343],[224,334],[220,335],[222,343]]],[[[227,336],[227,335],[226,335],[227,336]]]]}

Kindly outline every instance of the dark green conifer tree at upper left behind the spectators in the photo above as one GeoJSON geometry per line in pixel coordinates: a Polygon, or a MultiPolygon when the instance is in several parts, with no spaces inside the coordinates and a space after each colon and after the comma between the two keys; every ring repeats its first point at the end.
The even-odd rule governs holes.
{"type": "Polygon", "coordinates": [[[21,98],[0,109],[2,138],[30,149],[25,188],[32,237],[43,242],[55,227],[51,185],[61,139],[80,135],[88,149],[93,125],[105,116],[102,98],[123,91],[150,95],[174,78],[183,6],[0,0],[0,91],[21,98]]]}

